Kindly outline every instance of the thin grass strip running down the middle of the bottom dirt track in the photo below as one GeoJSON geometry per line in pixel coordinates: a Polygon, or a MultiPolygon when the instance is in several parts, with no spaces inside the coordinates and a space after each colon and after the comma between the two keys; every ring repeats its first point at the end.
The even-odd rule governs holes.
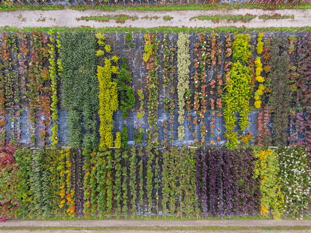
{"type": "Polygon", "coordinates": [[[43,231],[43,230],[89,230],[89,231],[304,231],[311,230],[310,226],[294,226],[294,227],[0,227],[0,230],[6,231],[43,231]]]}

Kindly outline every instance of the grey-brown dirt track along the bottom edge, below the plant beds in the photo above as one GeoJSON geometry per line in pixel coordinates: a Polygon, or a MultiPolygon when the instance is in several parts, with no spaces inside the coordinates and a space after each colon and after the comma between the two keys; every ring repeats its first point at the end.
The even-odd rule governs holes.
{"type": "MultiPolygon", "coordinates": [[[[155,220],[80,220],[80,221],[6,221],[0,223],[0,233],[7,233],[7,230],[1,230],[3,227],[19,227],[19,228],[30,228],[30,227],[106,227],[115,228],[105,232],[156,232],[155,227],[187,227],[193,228],[191,231],[176,231],[169,230],[165,232],[201,232],[198,228],[200,227],[295,227],[295,226],[308,226],[311,227],[311,220],[175,220],[175,221],[155,221],[155,220]],[[151,228],[150,231],[137,231],[137,230],[125,230],[124,228],[133,227],[147,227],[151,228]],[[117,229],[121,228],[121,229],[117,229]],[[123,228],[123,230],[122,230],[123,228]]],[[[104,232],[103,230],[92,231],[92,230],[36,230],[35,232],[104,232]]],[[[9,232],[33,232],[29,230],[14,230],[9,232]]],[[[224,231],[209,231],[209,232],[224,232],[224,231]]],[[[233,232],[227,230],[225,232],[233,232]]],[[[242,230],[238,232],[261,232],[260,230],[242,230]]],[[[300,231],[269,231],[269,232],[311,232],[310,230],[300,231]]]]}

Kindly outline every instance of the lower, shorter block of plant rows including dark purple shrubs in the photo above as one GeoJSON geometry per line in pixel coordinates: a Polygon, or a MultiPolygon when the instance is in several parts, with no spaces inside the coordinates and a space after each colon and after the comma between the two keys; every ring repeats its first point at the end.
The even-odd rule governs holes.
{"type": "Polygon", "coordinates": [[[303,218],[306,148],[1,149],[0,220],[90,216],[303,218]]]}

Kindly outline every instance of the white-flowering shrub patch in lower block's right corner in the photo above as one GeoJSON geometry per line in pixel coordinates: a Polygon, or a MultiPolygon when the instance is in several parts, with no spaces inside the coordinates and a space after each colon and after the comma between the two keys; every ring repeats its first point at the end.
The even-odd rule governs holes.
{"type": "Polygon", "coordinates": [[[302,218],[311,204],[310,153],[301,147],[286,147],[278,153],[284,213],[302,218]]]}

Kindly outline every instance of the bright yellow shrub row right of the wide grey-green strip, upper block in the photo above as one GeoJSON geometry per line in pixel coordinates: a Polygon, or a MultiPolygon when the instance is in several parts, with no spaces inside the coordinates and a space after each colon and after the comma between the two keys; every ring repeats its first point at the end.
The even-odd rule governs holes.
{"type": "Polygon", "coordinates": [[[118,73],[118,67],[113,66],[111,61],[116,58],[104,58],[104,67],[97,66],[97,78],[99,84],[99,147],[109,148],[113,146],[113,112],[118,109],[117,84],[111,80],[113,74],[118,73]]]}

